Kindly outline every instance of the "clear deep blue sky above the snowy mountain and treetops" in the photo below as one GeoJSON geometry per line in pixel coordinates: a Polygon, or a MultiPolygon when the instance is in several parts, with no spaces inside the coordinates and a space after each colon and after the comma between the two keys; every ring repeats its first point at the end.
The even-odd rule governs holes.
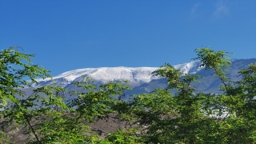
{"type": "Polygon", "coordinates": [[[0,49],[22,46],[52,76],[176,65],[210,46],[256,58],[255,0],[0,0],[0,49]]]}

